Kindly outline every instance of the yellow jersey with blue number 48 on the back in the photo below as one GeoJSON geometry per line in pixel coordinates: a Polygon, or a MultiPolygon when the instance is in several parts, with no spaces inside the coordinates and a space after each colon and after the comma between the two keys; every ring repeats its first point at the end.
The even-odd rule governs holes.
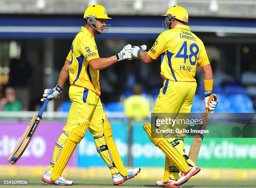
{"type": "Polygon", "coordinates": [[[195,82],[196,66],[210,64],[203,42],[182,24],[161,33],[147,53],[152,59],[161,55],[160,74],[171,81],[195,82]]]}

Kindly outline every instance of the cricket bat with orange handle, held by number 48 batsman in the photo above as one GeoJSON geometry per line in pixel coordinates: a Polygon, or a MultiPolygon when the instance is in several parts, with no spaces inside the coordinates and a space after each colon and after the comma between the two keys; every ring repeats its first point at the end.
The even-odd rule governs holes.
{"type": "MultiPolygon", "coordinates": [[[[208,105],[209,105],[209,103],[210,103],[210,101],[212,99],[213,99],[213,95],[210,95],[209,100],[207,102],[208,105]]],[[[207,107],[205,109],[205,114],[204,114],[204,117],[202,119],[202,124],[199,125],[197,130],[205,130],[206,129],[206,127],[207,127],[206,119],[207,119],[208,113],[209,113],[209,108],[207,107]]],[[[200,151],[200,147],[202,145],[203,138],[204,138],[204,133],[202,133],[202,134],[197,133],[197,135],[195,135],[195,137],[193,139],[193,142],[192,142],[192,145],[190,147],[189,156],[188,157],[194,163],[197,162],[197,157],[198,157],[198,154],[199,154],[199,151],[200,151]]]]}

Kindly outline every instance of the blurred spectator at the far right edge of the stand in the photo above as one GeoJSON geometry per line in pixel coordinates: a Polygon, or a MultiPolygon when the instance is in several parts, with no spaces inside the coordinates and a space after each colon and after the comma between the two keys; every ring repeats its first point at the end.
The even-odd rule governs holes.
{"type": "Polygon", "coordinates": [[[250,62],[250,69],[242,73],[242,84],[246,87],[246,93],[256,98],[256,61],[250,62]]]}

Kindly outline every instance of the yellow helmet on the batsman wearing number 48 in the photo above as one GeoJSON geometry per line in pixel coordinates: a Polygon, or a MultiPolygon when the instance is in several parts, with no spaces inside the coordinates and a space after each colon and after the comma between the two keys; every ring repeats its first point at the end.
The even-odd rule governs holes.
{"type": "Polygon", "coordinates": [[[187,10],[179,5],[170,7],[166,14],[162,16],[175,16],[175,19],[188,23],[187,10]]]}

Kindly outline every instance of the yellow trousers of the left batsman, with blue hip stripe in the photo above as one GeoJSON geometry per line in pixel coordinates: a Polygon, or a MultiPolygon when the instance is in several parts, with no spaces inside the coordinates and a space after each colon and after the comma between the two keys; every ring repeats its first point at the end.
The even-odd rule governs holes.
{"type": "MultiPolygon", "coordinates": [[[[54,164],[59,156],[61,147],[67,141],[68,135],[74,130],[74,128],[81,122],[88,120],[90,121],[89,131],[93,137],[99,137],[103,134],[103,108],[100,101],[100,97],[95,94],[95,92],[88,90],[86,88],[78,86],[69,87],[69,98],[72,105],[69,110],[67,124],[63,128],[63,133],[60,135],[56,145],[54,147],[54,152],[48,170],[52,171],[54,164]]],[[[104,137],[99,137],[95,139],[96,147],[106,145],[104,137]]],[[[108,150],[99,153],[102,159],[107,165],[112,163],[110,156],[108,155],[108,150]]],[[[111,174],[118,173],[117,168],[110,169],[111,174]]]]}

